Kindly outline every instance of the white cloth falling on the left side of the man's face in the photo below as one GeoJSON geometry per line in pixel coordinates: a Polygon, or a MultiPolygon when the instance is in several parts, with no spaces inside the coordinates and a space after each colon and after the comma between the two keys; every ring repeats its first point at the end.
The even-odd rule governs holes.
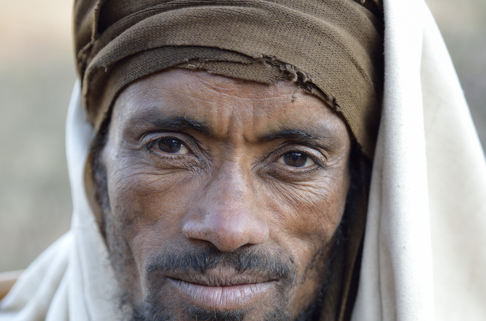
{"type": "Polygon", "coordinates": [[[74,85],[66,123],[73,213],[70,231],[20,276],[0,303],[0,321],[115,321],[118,289],[84,183],[92,127],[74,85]]]}

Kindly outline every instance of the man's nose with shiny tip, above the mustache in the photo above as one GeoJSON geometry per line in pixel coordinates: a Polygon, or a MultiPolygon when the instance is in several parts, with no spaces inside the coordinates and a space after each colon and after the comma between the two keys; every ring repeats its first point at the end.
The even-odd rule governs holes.
{"type": "Polygon", "coordinates": [[[187,239],[213,243],[222,252],[245,244],[261,244],[269,229],[255,200],[251,176],[229,162],[219,169],[195,200],[182,226],[187,239]]]}

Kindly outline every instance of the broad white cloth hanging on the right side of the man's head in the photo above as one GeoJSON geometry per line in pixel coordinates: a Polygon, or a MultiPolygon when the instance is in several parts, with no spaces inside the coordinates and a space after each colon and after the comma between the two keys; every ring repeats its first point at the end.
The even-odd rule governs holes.
{"type": "Polygon", "coordinates": [[[425,3],[383,2],[383,110],[352,321],[486,320],[484,154],[425,3]]]}

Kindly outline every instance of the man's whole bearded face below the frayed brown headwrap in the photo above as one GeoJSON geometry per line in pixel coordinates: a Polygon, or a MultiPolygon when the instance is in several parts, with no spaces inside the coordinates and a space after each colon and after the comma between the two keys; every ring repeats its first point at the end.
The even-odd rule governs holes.
{"type": "Polygon", "coordinates": [[[349,154],[342,118],[290,81],[170,69],[127,86],[101,163],[106,241],[134,319],[304,318],[349,154]]]}

